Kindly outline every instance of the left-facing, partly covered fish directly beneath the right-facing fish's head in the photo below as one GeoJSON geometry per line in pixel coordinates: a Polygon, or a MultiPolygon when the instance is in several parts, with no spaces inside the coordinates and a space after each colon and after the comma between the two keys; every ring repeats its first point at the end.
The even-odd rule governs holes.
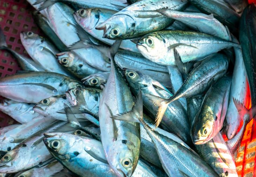
{"type": "MultiPolygon", "coordinates": [[[[44,98],[43,100],[35,104],[32,107],[32,110],[46,117],[50,117],[50,118],[61,120],[61,121],[67,121],[67,117],[65,114],[58,113],[58,111],[61,108],[65,108],[66,105],[72,106],[67,100],[66,95],[62,94],[62,95],[52,96],[49,98],[44,98]]],[[[82,115],[78,114],[76,116],[78,119],[85,119],[85,117],[82,115]]]]}

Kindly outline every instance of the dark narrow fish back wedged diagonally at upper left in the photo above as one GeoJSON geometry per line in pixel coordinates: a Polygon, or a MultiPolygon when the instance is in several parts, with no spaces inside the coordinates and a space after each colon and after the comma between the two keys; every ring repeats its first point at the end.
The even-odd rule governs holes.
{"type": "Polygon", "coordinates": [[[67,47],[63,44],[63,42],[49,26],[48,19],[38,11],[32,12],[32,17],[36,25],[43,31],[43,33],[49,38],[49,40],[52,41],[61,52],[65,52],[67,50],[67,47]]]}

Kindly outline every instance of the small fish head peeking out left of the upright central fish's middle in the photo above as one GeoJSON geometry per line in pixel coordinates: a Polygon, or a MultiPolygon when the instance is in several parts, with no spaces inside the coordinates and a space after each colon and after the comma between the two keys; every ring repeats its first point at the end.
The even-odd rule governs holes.
{"type": "Polygon", "coordinates": [[[83,79],[85,86],[100,87],[101,84],[107,83],[107,78],[100,74],[93,74],[83,79]]]}

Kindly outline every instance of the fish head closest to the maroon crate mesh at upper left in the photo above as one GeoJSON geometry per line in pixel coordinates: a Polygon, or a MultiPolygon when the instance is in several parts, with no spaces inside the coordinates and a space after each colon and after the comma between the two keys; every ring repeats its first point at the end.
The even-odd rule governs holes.
{"type": "Polygon", "coordinates": [[[22,45],[31,47],[33,45],[40,45],[45,39],[38,34],[28,31],[20,33],[20,40],[22,45]]]}

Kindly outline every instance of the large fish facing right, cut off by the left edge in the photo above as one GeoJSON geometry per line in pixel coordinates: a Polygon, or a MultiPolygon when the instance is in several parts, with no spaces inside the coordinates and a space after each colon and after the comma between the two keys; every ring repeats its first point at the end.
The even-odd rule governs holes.
{"type": "Polygon", "coordinates": [[[51,72],[26,72],[0,79],[0,95],[25,103],[37,103],[75,87],[83,86],[70,77],[51,72]]]}

